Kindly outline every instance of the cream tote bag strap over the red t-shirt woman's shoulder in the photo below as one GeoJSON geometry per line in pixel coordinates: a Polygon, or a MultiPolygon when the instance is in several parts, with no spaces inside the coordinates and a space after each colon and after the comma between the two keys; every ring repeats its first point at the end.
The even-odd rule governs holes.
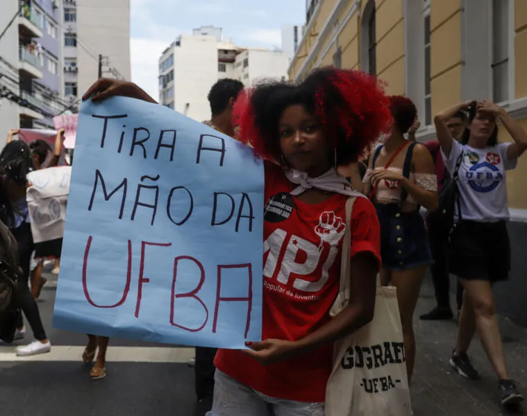
{"type": "Polygon", "coordinates": [[[337,299],[331,306],[330,316],[335,316],[344,309],[349,303],[349,292],[351,289],[351,275],[349,270],[349,253],[351,252],[351,214],[353,205],[358,197],[350,196],[346,200],[346,231],[342,241],[342,253],[340,255],[340,284],[337,299]]]}

